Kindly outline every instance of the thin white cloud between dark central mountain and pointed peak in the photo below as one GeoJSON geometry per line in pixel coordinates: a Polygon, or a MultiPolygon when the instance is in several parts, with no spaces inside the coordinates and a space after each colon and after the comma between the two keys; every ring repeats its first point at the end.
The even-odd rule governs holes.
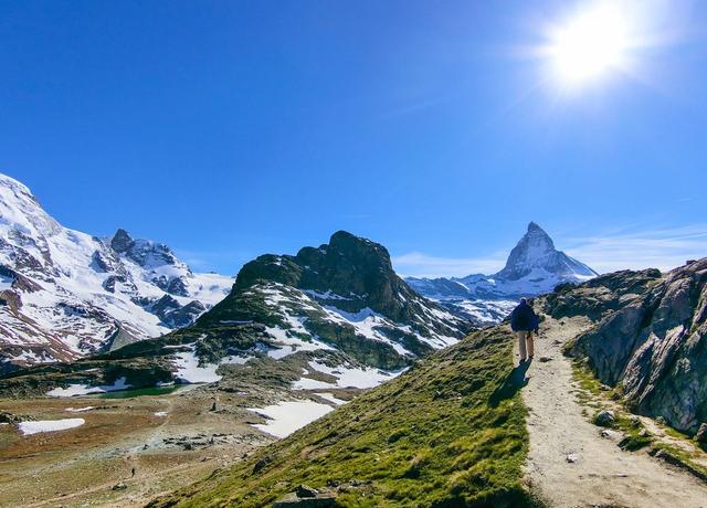
{"type": "Polygon", "coordinates": [[[507,253],[489,257],[439,257],[411,252],[393,256],[392,263],[401,275],[410,277],[463,277],[471,274],[492,274],[503,268],[507,253]]]}

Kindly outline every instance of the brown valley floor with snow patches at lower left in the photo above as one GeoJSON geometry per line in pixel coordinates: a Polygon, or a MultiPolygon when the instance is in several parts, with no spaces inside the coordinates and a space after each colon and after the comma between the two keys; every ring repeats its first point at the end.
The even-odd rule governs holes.
{"type": "Polygon", "coordinates": [[[18,425],[0,425],[0,506],[144,506],[276,441],[267,431],[289,433],[308,423],[318,415],[308,409],[331,411],[356,392],[291,394],[300,412],[295,423],[276,412],[265,416],[267,409],[258,413],[261,398],[214,385],[0,399],[0,412],[40,426],[83,420],[73,428],[27,435],[18,425]]]}

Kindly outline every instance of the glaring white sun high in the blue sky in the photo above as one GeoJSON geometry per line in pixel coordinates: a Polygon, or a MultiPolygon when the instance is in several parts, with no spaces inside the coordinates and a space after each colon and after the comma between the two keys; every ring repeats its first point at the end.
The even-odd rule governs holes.
{"type": "Polygon", "coordinates": [[[549,34],[547,54],[561,84],[595,81],[626,64],[631,45],[629,23],[619,8],[595,4],[549,34]]]}

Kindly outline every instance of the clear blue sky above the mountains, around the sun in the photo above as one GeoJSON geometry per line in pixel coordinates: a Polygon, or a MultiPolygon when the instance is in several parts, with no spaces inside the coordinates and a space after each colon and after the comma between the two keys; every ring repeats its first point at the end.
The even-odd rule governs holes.
{"type": "Polygon", "coordinates": [[[631,72],[568,92],[536,50],[588,2],[0,1],[0,171],[198,269],[345,229],[493,272],[530,220],[673,266],[707,255],[707,3],[644,3],[631,72]]]}

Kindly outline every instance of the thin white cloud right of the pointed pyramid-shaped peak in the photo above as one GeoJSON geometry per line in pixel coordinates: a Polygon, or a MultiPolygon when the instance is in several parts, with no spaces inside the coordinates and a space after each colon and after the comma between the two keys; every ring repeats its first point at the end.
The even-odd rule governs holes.
{"type": "Polygon", "coordinates": [[[567,239],[567,253],[600,273],[616,269],[671,269],[707,256],[707,224],[567,239]]]}

